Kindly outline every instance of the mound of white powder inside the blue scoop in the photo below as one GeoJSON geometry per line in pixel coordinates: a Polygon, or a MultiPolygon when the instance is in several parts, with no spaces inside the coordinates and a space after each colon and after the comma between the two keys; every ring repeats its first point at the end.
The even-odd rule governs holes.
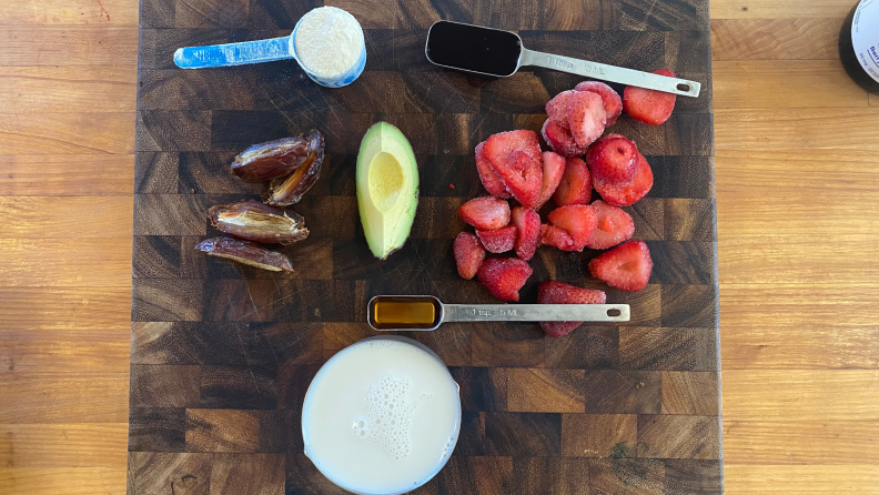
{"type": "Polygon", "coordinates": [[[337,78],[351,70],[364,49],[360,22],[335,7],[306,13],[296,28],[295,43],[300,63],[322,78],[337,78]]]}

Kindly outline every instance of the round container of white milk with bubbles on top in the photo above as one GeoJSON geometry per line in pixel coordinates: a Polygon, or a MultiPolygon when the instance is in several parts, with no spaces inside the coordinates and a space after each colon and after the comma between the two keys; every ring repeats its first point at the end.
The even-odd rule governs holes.
{"type": "Polygon", "coordinates": [[[345,489],[408,492],[430,481],[455,447],[458,386],[440,357],[408,342],[417,344],[378,337],[345,347],[305,394],[305,455],[345,489]]]}

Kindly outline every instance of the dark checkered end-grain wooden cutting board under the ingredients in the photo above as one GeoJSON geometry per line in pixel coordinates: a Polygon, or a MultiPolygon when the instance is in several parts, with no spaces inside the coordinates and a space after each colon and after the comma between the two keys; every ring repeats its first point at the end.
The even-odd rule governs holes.
{"type": "MultiPolygon", "coordinates": [[[[538,131],[544,104],[582,78],[543,69],[479,79],[428,64],[440,19],[516,30],[526,47],[700,81],[671,119],[613,127],[655,174],[626,210],[655,267],[625,293],[588,275],[597,253],[542,248],[522,291],[555,279],[607,291],[632,322],[560,339],[535,324],[446,324],[414,333],[461,384],[461,436],[423,494],[720,493],[717,243],[707,0],[501,2],[343,0],[365,29],[367,61],[347,88],[312,83],[292,61],[176,69],[173,51],[285,36],[319,6],[282,0],[142,0],[134,199],[129,493],[340,493],[303,455],[300,411],[323,362],[374,333],[377,294],[493,303],[456,274],[464,201],[484,194],[473,149],[513,129],[538,131]],[[354,168],[376,121],[417,154],[421,201],[406,245],[368,252],[354,168]],[[320,181],[292,210],[310,238],[284,248],[277,275],[193,250],[218,235],[213,204],[257,198],[230,172],[250,144],[312,128],[326,138],[320,181]],[[449,184],[454,184],[454,189],[449,184]]],[[[622,91],[620,87],[616,87],[622,91]]]]}

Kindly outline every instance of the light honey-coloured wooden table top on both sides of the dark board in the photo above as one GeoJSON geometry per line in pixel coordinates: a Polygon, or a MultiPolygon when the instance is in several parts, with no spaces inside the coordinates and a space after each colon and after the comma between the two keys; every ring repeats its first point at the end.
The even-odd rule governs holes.
{"type": "MultiPolygon", "coordinates": [[[[879,493],[853,3],[711,2],[727,493],[879,493]]],[[[138,2],[3,2],[0,47],[0,493],[124,493],[138,2]]]]}

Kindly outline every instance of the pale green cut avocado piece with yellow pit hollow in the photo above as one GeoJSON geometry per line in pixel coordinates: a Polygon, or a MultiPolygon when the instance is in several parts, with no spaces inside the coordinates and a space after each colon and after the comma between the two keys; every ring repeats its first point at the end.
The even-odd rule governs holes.
{"type": "Polygon", "coordinates": [[[387,122],[373,124],[361,142],[357,205],[375,257],[403,246],[418,206],[418,164],[406,137],[387,122]]]}

